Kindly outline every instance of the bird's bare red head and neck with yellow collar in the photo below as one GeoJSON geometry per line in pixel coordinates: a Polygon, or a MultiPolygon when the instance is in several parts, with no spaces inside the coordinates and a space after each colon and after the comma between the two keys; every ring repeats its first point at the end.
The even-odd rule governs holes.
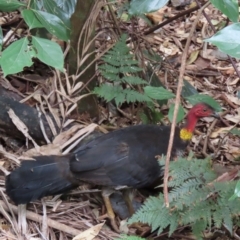
{"type": "Polygon", "coordinates": [[[214,109],[206,103],[198,103],[192,107],[187,114],[187,121],[184,128],[180,131],[180,138],[190,140],[198,119],[204,117],[218,117],[214,109]]]}

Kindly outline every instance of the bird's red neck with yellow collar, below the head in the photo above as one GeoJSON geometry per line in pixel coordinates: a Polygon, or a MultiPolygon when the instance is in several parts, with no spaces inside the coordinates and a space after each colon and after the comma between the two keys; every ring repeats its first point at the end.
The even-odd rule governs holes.
{"type": "Polygon", "coordinates": [[[185,126],[180,130],[180,138],[184,141],[190,141],[193,136],[193,131],[197,124],[198,119],[191,112],[187,115],[187,121],[185,126]]]}

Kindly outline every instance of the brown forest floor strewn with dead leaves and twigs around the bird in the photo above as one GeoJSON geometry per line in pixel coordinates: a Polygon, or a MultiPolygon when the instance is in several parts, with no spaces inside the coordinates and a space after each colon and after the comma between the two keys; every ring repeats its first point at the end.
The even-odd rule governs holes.
{"type": "MultiPolygon", "coordinates": [[[[185,43],[189,37],[191,38],[184,73],[184,80],[190,85],[186,88],[189,91],[194,88],[199,93],[213,97],[220,103],[222,112],[221,121],[206,118],[198,124],[188,150],[192,150],[198,157],[213,156],[216,166],[223,167],[221,171],[224,172],[224,167],[237,165],[238,161],[236,159],[240,155],[239,137],[229,133],[232,128],[239,126],[240,123],[240,78],[235,72],[234,66],[226,54],[204,42],[204,39],[213,34],[204,15],[199,17],[196,29],[190,35],[193,22],[197,18],[197,11],[189,11],[188,14],[176,17],[169,23],[163,24],[161,28],[156,27],[156,30],[152,31],[153,26],[158,26],[158,24],[179,16],[181,12],[189,9],[189,5],[174,8],[169,4],[157,12],[147,15],[152,26],[149,26],[143,19],[127,21],[122,18],[119,20],[118,28],[130,36],[132,34],[132,36],[138,37],[134,44],[129,43],[132,52],[141,55],[144,49],[151,49],[153,53],[161,58],[161,62],[155,61],[154,74],[158,76],[160,83],[173,93],[176,93],[177,89],[178,82],[176,79],[178,79],[185,43]],[[141,33],[148,30],[150,31],[146,35],[141,35],[141,33]]],[[[216,29],[226,23],[225,17],[212,5],[205,9],[205,14],[209,16],[216,29]]],[[[10,19],[19,15],[19,12],[12,12],[10,19]]],[[[10,15],[3,13],[0,22],[1,18],[6,21],[7,16],[10,15]]],[[[12,23],[9,20],[9,22],[4,22],[2,27],[8,32],[15,25],[16,22],[12,23]]],[[[98,19],[97,32],[102,33],[96,39],[97,52],[100,47],[101,51],[103,51],[104,47],[107,49],[110,44],[116,41],[113,34],[115,30],[115,22],[110,18],[109,12],[103,9],[98,19]]],[[[16,32],[16,38],[25,33],[26,29],[24,27],[20,28],[16,32]]],[[[142,67],[146,69],[150,59],[145,57],[142,59],[142,67]]],[[[240,71],[240,63],[236,62],[235,59],[233,61],[238,71],[240,71]]],[[[18,95],[21,102],[33,108],[39,105],[41,109],[41,106],[44,106],[45,111],[53,113],[55,119],[62,121],[61,124],[63,125],[67,121],[66,119],[63,121],[62,117],[70,105],[67,106],[64,103],[63,106],[60,106],[59,104],[59,99],[62,99],[62,96],[68,96],[68,93],[60,86],[58,77],[59,74],[55,73],[54,70],[50,71],[47,66],[35,62],[34,67],[26,69],[21,74],[11,75],[7,78],[2,77],[0,81],[1,87],[18,95]],[[54,94],[49,97],[52,92],[54,94]]],[[[63,81],[62,86],[66,86],[66,78],[61,81],[63,81]]],[[[74,99],[72,100],[74,101],[74,99]]],[[[161,107],[161,111],[165,116],[173,101],[169,101],[168,104],[161,107]]],[[[181,104],[186,111],[191,107],[190,104],[184,101],[181,104]]],[[[34,147],[31,141],[19,141],[1,135],[0,240],[60,240],[72,239],[74,236],[76,236],[74,240],[90,240],[93,238],[116,239],[120,237],[118,233],[111,229],[100,191],[96,186],[84,185],[64,196],[46,197],[43,200],[34,201],[27,205],[26,210],[26,206],[17,207],[10,201],[5,193],[4,179],[5,174],[12,171],[23,156],[29,157],[39,153],[45,155],[60,154],[60,152],[63,152],[63,148],[60,146],[63,145],[68,146],[68,151],[71,151],[75,147],[73,145],[76,137],[80,138],[89,135],[98,125],[100,131],[106,133],[114,129],[141,123],[137,109],[133,108],[132,105],[127,105],[124,108],[116,109],[112,105],[109,106],[100,102],[100,117],[98,120],[91,119],[88,114],[79,114],[74,109],[71,114],[68,114],[68,119],[72,119],[72,122],[74,122],[74,128],[57,133],[54,141],[39,146],[38,149],[36,146],[34,147]]],[[[164,118],[164,123],[170,124],[167,117],[164,118]]],[[[65,149],[65,153],[68,152],[65,149]]],[[[137,196],[135,200],[137,204],[141,204],[145,197],[140,193],[137,196]]],[[[119,200],[118,196],[114,196],[112,201],[119,203],[122,200],[119,200]]],[[[115,211],[124,212],[125,210],[115,208],[115,211]]],[[[117,221],[123,231],[130,232],[130,234],[140,234],[134,227],[127,226],[127,219],[121,219],[118,214],[117,221]]],[[[184,230],[174,234],[169,239],[194,239],[190,233],[187,235],[183,235],[183,233],[184,230]]],[[[144,237],[168,239],[167,230],[163,235],[156,236],[155,233],[151,234],[147,226],[142,235],[144,237]]],[[[228,238],[226,236],[215,236],[212,239],[228,238]]]]}

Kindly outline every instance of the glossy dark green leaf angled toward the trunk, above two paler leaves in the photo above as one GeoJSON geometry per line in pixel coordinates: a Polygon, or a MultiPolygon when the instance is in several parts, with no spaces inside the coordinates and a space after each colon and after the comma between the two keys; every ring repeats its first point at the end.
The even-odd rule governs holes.
{"type": "Polygon", "coordinates": [[[50,13],[46,13],[43,11],[34,10],[38,20],[42,23],[42,25],[54,36],[57,38],[67,41],[69,40],[70,32],[65,27],[63,21],[50,13]]]}

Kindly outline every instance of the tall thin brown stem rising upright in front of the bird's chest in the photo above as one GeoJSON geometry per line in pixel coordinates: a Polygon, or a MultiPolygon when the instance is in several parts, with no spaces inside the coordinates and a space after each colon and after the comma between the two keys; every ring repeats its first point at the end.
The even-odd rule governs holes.
{"type": "Polygon", "coordinates": [[[164,171],[164,202],[165,206],[169,207],[169,198],[168,198],[168,177],[169,177],[169,162],[170,162],[170,157],[171,157],[171,151],[172,151],[172,146],[173,146],[173,138],[175,134],[175,126],[176,126],[176,120],[177,120],[177,113],[179,109],[179,102],[180,102],[180,96],[182,92],[182,86],[183,86],[183,75],[184,75],[184,70],[186,66],[186,60],[187,60],[187,53],[188,53],[188,48],[191,42],[191,36],[193,35],[194,30],[196,29],[198,20],[202,14],[202,11],[204,8],[206,8],[210,2],[207,2],[199,11],[197,14],[197,17],[192,25],[191,31],[189,33],[189,37],[186,42],[186,46],[182,55],[182,64],[180,68],[180,74],[179,74],[179,80],[178,80],[178,87],[177,87],[177,94],[176,94],[176,105],[174,108],[174,113],[173,113],[173,121],[172,121],[172,126],[171,126],[171,132],[170,132],[170,139],[168,143],[168,150],[167,150],[167,156],[166,156],[166,163],[165,163],[165,171],[164,171]]]}

